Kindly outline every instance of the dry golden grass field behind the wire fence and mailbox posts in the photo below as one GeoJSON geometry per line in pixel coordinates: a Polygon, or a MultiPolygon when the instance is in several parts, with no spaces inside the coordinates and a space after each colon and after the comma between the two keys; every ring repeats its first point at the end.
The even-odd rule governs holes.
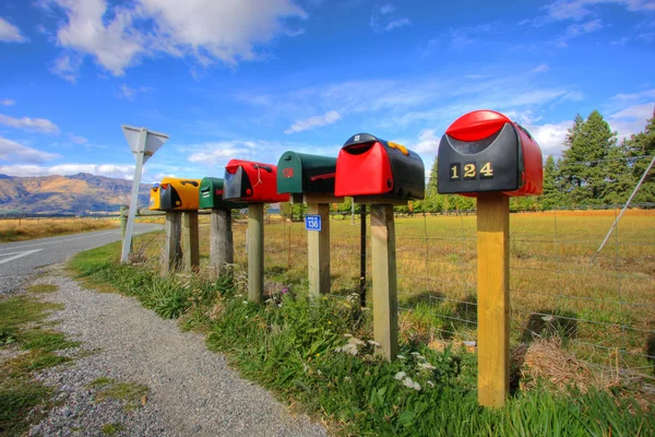
{"type": "MultiPolygon", "coordinates": [[[[515,344],[557,335],[591,363],[652,373],[654,358],[647,355],[655,355],[655,212],[629,211],[594,259],[617,214],[614,210],[512,214],[515,344]]],[[[332,293],[356,293],[359,225],[336,218],[331,226],[332,293]]],[[[235,223],[235,257],[241,265],[247,263],[246,231],[245,222],[235,223]]],[[[205,262],[207,233],[202,218],[205,262]]],[[[163,233],[146,235],[135,247],[156,257],[163,238],[163,233]]],[[[400,217],[396,251],[402,334],[416,341],[475,340],[476,216],[400,217]]],[[[370,272],[370,257],[368,261],[370,272]]],[[[265,270],[269,288],[307,287],[302,223],[266,225],[265,270]]]]}

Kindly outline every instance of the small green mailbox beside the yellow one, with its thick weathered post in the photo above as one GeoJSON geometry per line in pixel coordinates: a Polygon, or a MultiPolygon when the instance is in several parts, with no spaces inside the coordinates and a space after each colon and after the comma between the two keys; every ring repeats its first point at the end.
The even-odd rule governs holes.
{"type": "Polygon", "coordinates": [[[200,182],[201,210],[211,209],[210,216],[210,277],[217,280],[231,274],[235,249],[231,231],[231,210],[248,208],[248,203],[223,200],[223,179],[203,178],[200,182]]]}

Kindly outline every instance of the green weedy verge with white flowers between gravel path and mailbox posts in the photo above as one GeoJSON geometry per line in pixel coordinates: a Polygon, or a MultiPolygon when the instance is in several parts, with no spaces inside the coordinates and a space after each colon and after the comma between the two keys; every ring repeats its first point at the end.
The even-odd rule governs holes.
{"type": "MultiPolygon", "coordinates": [[[[436,352],[412,339],[402,358],[385,363],[371,342],[370,314],[343,298],[308,300],[286,288],[265,305],[245,297],[243,277],[212,283],[160,277],[155,269],[119,265],[118,246],[78,255],[72,268],[88,283],[138,297],[186,329],[206,332],[207,346],[229,356],[241,374],[298,410],[320,416],[341,435],[390,436],[646,436],[655,409],[623,387],[555,390],[532,381],[498,411],[476,395],[476,355],[436,352]]],[[[529,373],[525,373],[528,375],[529,373]]]]}

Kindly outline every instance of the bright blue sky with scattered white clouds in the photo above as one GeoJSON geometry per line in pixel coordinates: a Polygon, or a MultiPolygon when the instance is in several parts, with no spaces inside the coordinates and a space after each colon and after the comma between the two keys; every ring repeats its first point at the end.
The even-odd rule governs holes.
{"type": "Polygon", "coordinates": [[[655,106],[655,0],[4,0],[0,173],[131,178],[120,126],[170,140],[144,180],[336,156],[370,132],[429,167],[500,110],[559,155],[575,114],[619,137],[655,106]]]}

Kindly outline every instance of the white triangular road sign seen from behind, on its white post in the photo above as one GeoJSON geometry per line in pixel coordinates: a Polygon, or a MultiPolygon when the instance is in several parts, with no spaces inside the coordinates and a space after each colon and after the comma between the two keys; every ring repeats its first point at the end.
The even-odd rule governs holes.
{"type": "Polygon", "coordinates": [[[134,217],[136,216],[136,204],[139,201],[139,188],[141,187],[141,173],[143,164],[155,154],[168,140],[165,133],[148,131],[145,128],[133,128],[131,126],[122,126],[123,134],[130,149],[136,160],[134,167],[134,180],[132,180],[132,194],[130,197],[130,210],[128,211],[128,226],[126,228],[126,238],[123,240],[120,262],[128,262],[130,250],[132,248],[132,233],[134,231],[134,217]]]}

